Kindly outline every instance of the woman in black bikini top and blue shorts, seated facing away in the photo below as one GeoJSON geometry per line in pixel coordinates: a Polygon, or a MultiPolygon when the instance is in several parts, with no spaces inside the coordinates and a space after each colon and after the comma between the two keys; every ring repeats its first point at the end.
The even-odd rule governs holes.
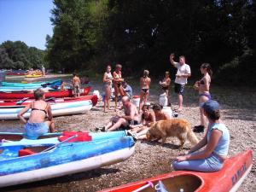
{"type": "Polygon", "coordinates": [[[18,118],[25,124],[26,137],[29,139],[36,139],[48,131],[55,132],[50,105],[44,102],[44,91],[35,90],[34,97],[36,101],[26,105],[18,114],[18,118]],[[30,117],[26,120],[23,114],[29,109],[31,109],[30,117]],[[46,116],[48,116],[48,120],[44,121],[46,116]]]}

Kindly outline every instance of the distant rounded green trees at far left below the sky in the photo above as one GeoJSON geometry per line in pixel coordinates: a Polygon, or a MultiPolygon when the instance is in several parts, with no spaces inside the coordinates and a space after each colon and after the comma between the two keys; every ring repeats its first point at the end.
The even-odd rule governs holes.
{"type": "Polygon", "coordinates": [[[0,45],[0,66],[2,68],[29,69],[47,66],[44,50],[28,47],[21,41],[6,41],[0,45]]]}

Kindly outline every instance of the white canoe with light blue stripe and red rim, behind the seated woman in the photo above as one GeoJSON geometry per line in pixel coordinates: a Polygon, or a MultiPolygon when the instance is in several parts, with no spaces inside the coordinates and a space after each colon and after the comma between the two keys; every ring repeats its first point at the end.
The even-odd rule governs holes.
{"type": "MultiPolygon", "coordinates": [[[[86,98],[73,98],[70,100],[49,102],[53,116],[69,115],[85,113],[92,108],[91,100],[86,98]]],[[[25,108],[24,105],[15,106],[1,106],[0,107],[0,119],[18,119],[17,115],[20,113],[21,109],[25,108]]],[[[29,109],[23,117],[28,119],[30,116],[31,109],[29,109]]]]}

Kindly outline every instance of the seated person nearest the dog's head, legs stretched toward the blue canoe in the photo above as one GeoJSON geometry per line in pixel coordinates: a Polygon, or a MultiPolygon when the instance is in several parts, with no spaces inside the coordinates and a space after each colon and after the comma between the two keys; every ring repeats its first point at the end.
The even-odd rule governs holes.
{"type": "Polygon", "coordinates": [[[128,131],[128,134],[131,134],[131,136],[135,137],[136,139],[147,139],[146,134],[152,124],[154,124],[156,121],[159,121],[159,120],[170,119],[170,117],[166,113],[162,112],[162,108],[163,107],[160,106],[160,104],[154,104],[153,105],[154,119],[152,120],[152,122],[148,123],[148,126],[145,127],[142,131],[138,133],[134,131],[128,131]]]}

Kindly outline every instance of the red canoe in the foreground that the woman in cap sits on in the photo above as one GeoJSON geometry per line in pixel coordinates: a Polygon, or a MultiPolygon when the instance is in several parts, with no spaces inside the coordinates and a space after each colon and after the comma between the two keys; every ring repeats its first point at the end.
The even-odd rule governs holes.
{"type": "Polygon", "coordinates": [[[247,150],[241,154],[237,154],[236,156],[230,157],[229,159],[225,160],[224,167],[218,172],[170,172],[164,175],[144,179],[143,181],[138,181],[136,183],[128,183],[119,187],[105,189],[102,191],[156,191],[154,188],[150,187],[150,185],[157,188],[164,185],[166,191],[170,192],[236,191],[241,185],[242,181],[247,177],[247,174],[251,171],[252,166],[253,151],[247,150]],[[159,184],[158,186],[156,186],[157,183],[160,183],[159,181],[161,181],[163,185],[159,184]],[[143,189],[143,187],[145,189],[143,189]]]}

